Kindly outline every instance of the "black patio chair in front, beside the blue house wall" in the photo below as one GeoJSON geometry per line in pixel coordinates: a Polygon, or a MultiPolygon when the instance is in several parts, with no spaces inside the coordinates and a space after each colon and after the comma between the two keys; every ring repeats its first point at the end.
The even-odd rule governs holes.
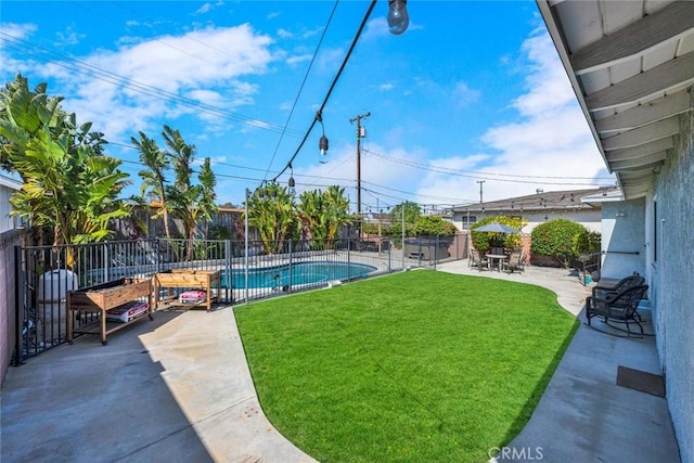
{"type": "Polygon", "coordinates": [[[644,333],[643,326],[641,325],[641,317],[637,313],[637,309],[639,308],[639,303],[647,290],[648,285],[641,284],[629,286],[619,293],[609,293],[604,299],[588,296],[586,298],[586,321],[588,322],[588,325],[593,327],[591,325],[591,319],[593,317],[601,317],[606,325],[615,330],[625,331],[621,327],[613,325],[611,322],[624,323],[626,326],[627,337],[631,337],[632,332],[629,322],[634,322],[639,326],[639,330],[641,330],[641,335],[643,336],[644,333]]]}

